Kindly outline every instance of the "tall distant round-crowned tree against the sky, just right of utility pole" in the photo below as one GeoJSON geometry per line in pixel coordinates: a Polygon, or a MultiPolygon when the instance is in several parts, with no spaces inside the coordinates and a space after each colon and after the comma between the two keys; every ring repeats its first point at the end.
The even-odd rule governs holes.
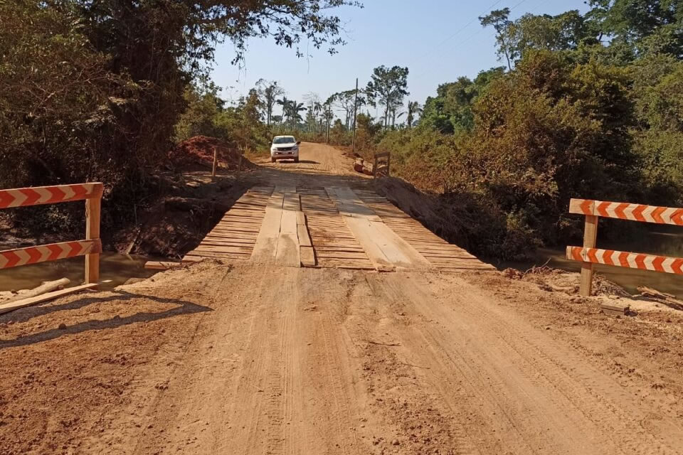
{"type": "Polygon", "coordinates": [[[374,69],[370,82],[365,89],[368,102],[372,106],[377,104],[384,107],[384,128],[388,127],[389,114],[397,105],[403,104],[403,98],[408,92],[408,68],[393,66],[386,68],[382,65],[374,69]]]}

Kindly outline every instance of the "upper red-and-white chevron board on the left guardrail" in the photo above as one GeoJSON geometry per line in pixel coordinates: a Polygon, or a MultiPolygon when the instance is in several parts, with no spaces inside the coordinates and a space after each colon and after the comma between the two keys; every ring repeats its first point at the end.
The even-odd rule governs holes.
{"type": "Polygon", "coordinates": [[[100,196],[102,196],[102,183],[16,188],[0,190],[0,208],[70,202],[100,196]]]}

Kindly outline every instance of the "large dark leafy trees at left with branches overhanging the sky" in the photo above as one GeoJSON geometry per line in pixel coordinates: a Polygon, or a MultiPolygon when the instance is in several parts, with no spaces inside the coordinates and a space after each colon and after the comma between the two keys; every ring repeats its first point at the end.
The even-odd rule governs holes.
{"type": "Polygon", "coordinates": [[[233,41],[235,62],[246,40],[257,36],[298,54],[302,38],[334,53],[343,43],[341,22],[327,12],[344,5],[359,6],[346,0],[0,1],[0,184],[104,181],[105,225],[125,222],[134,215],[130,202],[150,188],[150,171],[166,164],[174,135],[213,128],[255,143],[263,111],[255,94],[223,109],[215,93],[188,90],[206,79],[217,43],[233,41]],[[198,119],[181,118],[188,104],[198,119]]]}

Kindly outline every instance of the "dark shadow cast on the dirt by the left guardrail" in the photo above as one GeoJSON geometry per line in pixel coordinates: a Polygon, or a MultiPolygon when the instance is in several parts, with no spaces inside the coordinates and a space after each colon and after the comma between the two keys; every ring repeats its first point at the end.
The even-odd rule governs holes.
{"type": "Polygon", "coordinates": [[[15,323],[26,322],[34,317],[44,316],[46,314],[55,313],[57,311],[77,310],[90,304],[102,304],[113,301],[120,303],[125,301],[132,301],[134,299],[147,299],[159,304],[174,304],[177,306],[176,308],[159,312],[147,311],[132,314],[131,316],[125,317],[114,316],[113,318],[105,320],[90,320],[76,323],[73,326],[61,326],[62,328],[53,328],[51,330],[43,331],[40,333],[31,333],[30,335],[15,338],[14,340],[1,340],[0,350],[3,350],[5,348],[16,348],[18,346],[30,346],[35,343],[54,340],[55,338],[60,338],[61,336],[74,335],[76,333],[83,333],[86,331],[97,331],[106,328],[119,328],[134,323],[159,321],[160,319],[171,318],[174,316],[198,314],[206,311],[213,311],[213,309],[209,308],[208,306],[201,306],[189,301],[179,299],[164,299],[162,297],[149,296],[146,294],[134,294],[128,291],[112,291],[112,294],[113,295],[105,297],[86,296],[83,299],[77,299],[61,305],[40,306],[33,307],[31,309],[24,309],[24,311],[22,311],[20,314],[15,315],[18,316],[18,318],[13,317],[11,320],[15,323]]]}

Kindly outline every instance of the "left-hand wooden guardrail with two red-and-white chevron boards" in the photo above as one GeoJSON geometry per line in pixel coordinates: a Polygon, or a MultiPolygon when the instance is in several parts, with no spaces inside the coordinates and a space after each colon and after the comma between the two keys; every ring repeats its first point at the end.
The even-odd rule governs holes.
{"type": "Polygon", "coordinates": [[[100,279],[102,183],[0,190],[0,209],[85,200],[85,239],[0,251],[0,269],[85,256],[85,283],[100,279]]]}

